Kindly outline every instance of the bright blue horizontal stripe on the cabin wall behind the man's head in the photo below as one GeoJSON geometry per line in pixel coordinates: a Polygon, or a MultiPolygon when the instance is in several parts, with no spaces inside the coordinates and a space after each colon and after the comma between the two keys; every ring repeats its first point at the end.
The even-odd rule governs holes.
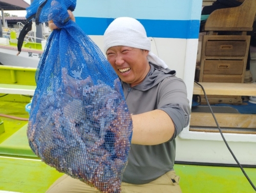
{"type": "MultiPolygon", "coordinates": [[[[76,17],[76,23],[88,35],[103,35],[113,18],[76,17]]],[[[195,39],[199,36],[199,20],[138,19],[148,37],[195,39]]]]}

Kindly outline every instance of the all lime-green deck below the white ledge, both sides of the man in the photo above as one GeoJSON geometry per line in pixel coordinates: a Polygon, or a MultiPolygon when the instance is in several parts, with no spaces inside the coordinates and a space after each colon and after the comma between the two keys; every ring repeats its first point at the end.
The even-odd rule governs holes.
{"type": "MultiPolygon", "coordinates": [[[[0,101],[0,114],[28,118],[26,104],[0,101]]],[[[0,118],[4,121],[6,130],[0,135],[0,190],[44,193],[62,174],[35,159],[26,140],[27,121],[0,118]],[[6,155],[6,152],[12,155],[6,155]]],[[[244,169],[256,185],[256,168],[244,169]]],[[[180,186],[183,193],[255,192],[238,167],[176,164],[175,170],[181,177],[180,186]]]]}

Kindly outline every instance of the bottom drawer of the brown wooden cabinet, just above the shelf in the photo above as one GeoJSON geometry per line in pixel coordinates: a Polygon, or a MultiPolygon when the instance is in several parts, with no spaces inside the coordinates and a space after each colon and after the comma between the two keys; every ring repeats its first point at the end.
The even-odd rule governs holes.
{"type": "Polygon", "coordinates": [[[242,83],[241,75],[215,75],[206,74],[202,77],[202,82],[226,82],[226,83],[242,83]]]}

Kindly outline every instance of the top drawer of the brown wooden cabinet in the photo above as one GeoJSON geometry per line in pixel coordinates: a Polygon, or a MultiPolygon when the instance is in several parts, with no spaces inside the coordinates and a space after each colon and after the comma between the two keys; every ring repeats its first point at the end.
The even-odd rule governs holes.
{"type": "Polygon", "coordinates": [[[206,42],[205,56],[245,56],[246,41],[211,41],[206,42]]]}

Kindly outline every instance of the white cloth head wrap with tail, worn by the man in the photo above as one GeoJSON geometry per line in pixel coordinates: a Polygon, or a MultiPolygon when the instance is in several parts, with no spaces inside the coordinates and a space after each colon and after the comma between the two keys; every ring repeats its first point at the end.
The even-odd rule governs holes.
{"type": "Polygon", "coordinates": [[[118,17],[104,33],[104,52],[113,46],[128,46],[148,50],[147,59],[164,69],[166,63],[151,52],[151,40],[146,36],[142,24],[131,17],[118,17]]]}

